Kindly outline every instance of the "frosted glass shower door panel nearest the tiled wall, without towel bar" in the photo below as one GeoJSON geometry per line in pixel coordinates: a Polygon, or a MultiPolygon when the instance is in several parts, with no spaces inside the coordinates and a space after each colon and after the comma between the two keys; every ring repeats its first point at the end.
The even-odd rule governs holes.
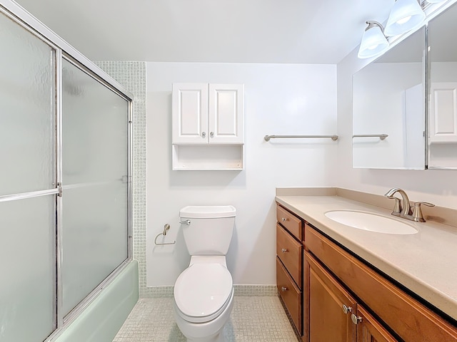
{"type": "Polygon", "coordinates": [[[129,102],[62,61],[62,313],[127,259],[129,102]]]}

